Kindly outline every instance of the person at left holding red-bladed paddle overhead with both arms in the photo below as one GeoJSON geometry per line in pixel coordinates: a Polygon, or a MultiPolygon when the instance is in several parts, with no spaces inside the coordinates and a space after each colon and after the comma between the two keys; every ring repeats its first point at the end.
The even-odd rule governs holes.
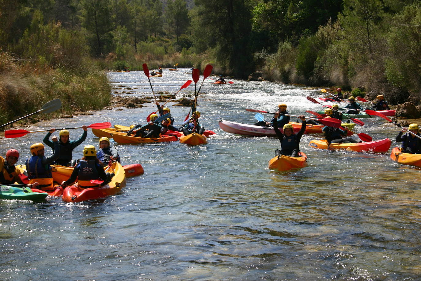
{"type": "MultiPolygon", "coordinates": [[[[86,136],[88,135],[88,127],[83,125],[83,134],[82,136],[77,140],[69,140],[70,133],[68,130],[61,130],[59,133],[59,150],[60,150],[60,157],[54,161],[52,164],[59,164],[62,166],[75,166],[76,161],[73,159],[73,150],[80,145],[82,142],[85,141],[86,136]]],[[[51,134],[53,134],[56,131],[55,128],[51,128],[50,131],[45,135],[45,138],[43,139],[43,143],[51,147],[52,149],[55,149],[55,145],[52,141],[49,140],[51,134]]]]}

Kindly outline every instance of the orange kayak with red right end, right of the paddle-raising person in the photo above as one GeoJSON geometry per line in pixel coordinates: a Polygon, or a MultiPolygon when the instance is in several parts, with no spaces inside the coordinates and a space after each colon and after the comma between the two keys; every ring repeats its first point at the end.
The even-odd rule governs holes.
{"type": "Polygon", "coordinates": [[[358,143],[331,143],[328,147],[328,142],[325,139],[317,140],[313,139],[310,143],[310,147],[328,149],[328,150],[353,150],[353,151],[369,151],[385,153],[389,150],[392,141],[390,139],[380,139],[373,142],[358,142],[358,143]]]}

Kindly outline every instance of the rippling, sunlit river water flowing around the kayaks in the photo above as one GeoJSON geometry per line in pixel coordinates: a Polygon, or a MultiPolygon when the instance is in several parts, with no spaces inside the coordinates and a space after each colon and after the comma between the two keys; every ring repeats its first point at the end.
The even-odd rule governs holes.
{"type": "MultiPolygon", "coordinates": [[[[151,78],[154,90],[176,92],[191,79],[187,72],[164,70],[164,77],[151,78]]],[[[114,94],[151,96],[143,72],[113,72],[109,78],[114,94]]],[[[207,145],[112,142],[123,164],[141,163],[145,170],[128,178],[120,194],[81,203],[0,200],[0,279],[420,280],[421,171],[391,161],[390,150],[317,150],[308,143],[322,136],[308,134],[300,146],[308,156],[306,168],[270,171],[268,161],[280,147],[276,138],[229,134],[218,121],[254,123],[246,108],[273,112],[281,102],[293,115],[317,111],[321,106],[306,96],[322,93],[232,81],[203,83],[200,122],[217,133],[207,145]]],[[[202,77],[198,86],[201,82],[202,77]]],[[[193,91],[189,86],[178,98],[193,91]]],[[[156,109],[144,105],[24,129],[144,123],[156,109]]],[[[170,108],[181,123],[188,108],[170,108]]],[[[364,121],[356,131],[373,139],[389,137],[397,146],[399,128],[379,118],[364,121]]],[[[70,137],[81,134],[75,129],[70,137]]],[[[15,147],[21,153],[18,163],[24,163],[29,145],[43,137],[3,138],[1,154],[15,147]]],[[[98,146],[91,131],[83,145],[90,144],[98,146]]],[[[74,150],[75,158],[83,145],[74,150]]]]}

